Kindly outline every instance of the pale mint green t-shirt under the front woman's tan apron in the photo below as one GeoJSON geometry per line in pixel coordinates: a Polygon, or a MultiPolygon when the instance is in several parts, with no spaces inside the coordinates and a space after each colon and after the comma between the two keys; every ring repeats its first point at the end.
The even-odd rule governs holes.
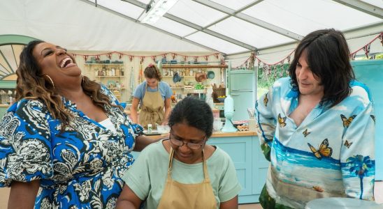
{"type": "MultiPolygon", "coordinates": [[[[157,208],[164,191],[168,172],[169,153],[162,141],[150,144],[138,156],[122,180],[142,200],[145,208],[157,208]]],[[[206,161],[212,190],[219,203],[233,199],[240,192],[233,162],[224,150],[217,147],[206,161]]],[[[172,178],[180,183],[201,183],[203,163],[185,164],[173,159],[172,178]]]]}

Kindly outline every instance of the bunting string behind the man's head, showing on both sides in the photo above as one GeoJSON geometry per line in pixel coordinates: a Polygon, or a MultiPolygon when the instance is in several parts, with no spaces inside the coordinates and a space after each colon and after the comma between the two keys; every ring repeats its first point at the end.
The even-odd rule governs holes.
{"type": "MultiPolygon", "coordinates": [[[[366,45],[364,45],[363,47],[361,47],[359,49],[356,49],[355,52],[350,53],[349,58],[354,60],[356,53],[363,50],[364,54],[366,54],[366,57],[368,59],[369,58],[368,55],[370,54],[370,45],[372,42],[374,42],[377,39],[380,40],[380,42],[382,43],[382,46],[383,46],[383,32],[381,32],[379,35],[377,35],[375,38],[373,38],[373,40],[370,40],[370,42],[368,42],[366,45]]],[[[238,65],[236,68],[243,68],[243,67],[247,68],[247,66],[252,67],[252,66],[254,66],[254,61],[252,61],[252,60],[256,59],[256,61],[258,61],[259,65],[263,65],[266,68],[271,69],[275,65],[283,65],[284,63],[286,63],[286,61],[287,61],[287,63],[290,63],[291,55],[294,52],[295,52],[295,49],[292,52],[290,52],[287,56],[285,56],[282,60],[277,61],[275,63],[267,63],[266,61],[263,61],[262,59],[260,59],[259,56],[257,56],[254,52],[252,52],[252,54],[250,54],[250,57],[247,58],[244,63],[242,63],[241,65],[238,65]]]]}

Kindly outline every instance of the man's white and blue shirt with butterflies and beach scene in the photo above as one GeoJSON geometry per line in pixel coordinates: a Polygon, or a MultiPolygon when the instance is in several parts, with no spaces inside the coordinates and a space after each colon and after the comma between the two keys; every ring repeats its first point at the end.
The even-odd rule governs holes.
{"type": "Polygon", "coordinates": [[[289,118],[298,107],[290,82],[277,80],[256,102],[270,197],[291,208],[328,196],[373,200],[375,116],[367,86],[352,82],[345,100],[331,108],[317,104],[297,126],[289,118]]]}

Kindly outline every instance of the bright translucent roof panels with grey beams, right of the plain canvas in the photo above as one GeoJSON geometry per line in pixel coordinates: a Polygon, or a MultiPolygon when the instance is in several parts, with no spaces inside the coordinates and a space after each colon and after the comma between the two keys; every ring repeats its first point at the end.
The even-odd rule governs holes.
{"type": "MultiPolygon", "coordinates": [[[[149,0],[98,0],[94,4],[138,20],[149,0]]],[[[226,54],[301,40],[311,31],[347,31],[383,24],[383,1],[331,0],[180,0],[159,22],[158,29],[226,54]]],[[[382,26],[383,29],[383,26],[382,26]]]]}

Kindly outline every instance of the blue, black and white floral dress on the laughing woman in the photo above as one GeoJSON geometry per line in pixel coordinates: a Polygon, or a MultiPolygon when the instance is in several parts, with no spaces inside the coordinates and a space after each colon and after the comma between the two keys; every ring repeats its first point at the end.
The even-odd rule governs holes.
{"type": "Polygon", "coordinates": [[[0,186],[40,180],[35,208],[115,208],[142,127],[106,106],[116,132],[108,130],[62,100],[74,116],[64,132],[41,100],[20,100],[8,109],[0,123],[0,186]]]}

